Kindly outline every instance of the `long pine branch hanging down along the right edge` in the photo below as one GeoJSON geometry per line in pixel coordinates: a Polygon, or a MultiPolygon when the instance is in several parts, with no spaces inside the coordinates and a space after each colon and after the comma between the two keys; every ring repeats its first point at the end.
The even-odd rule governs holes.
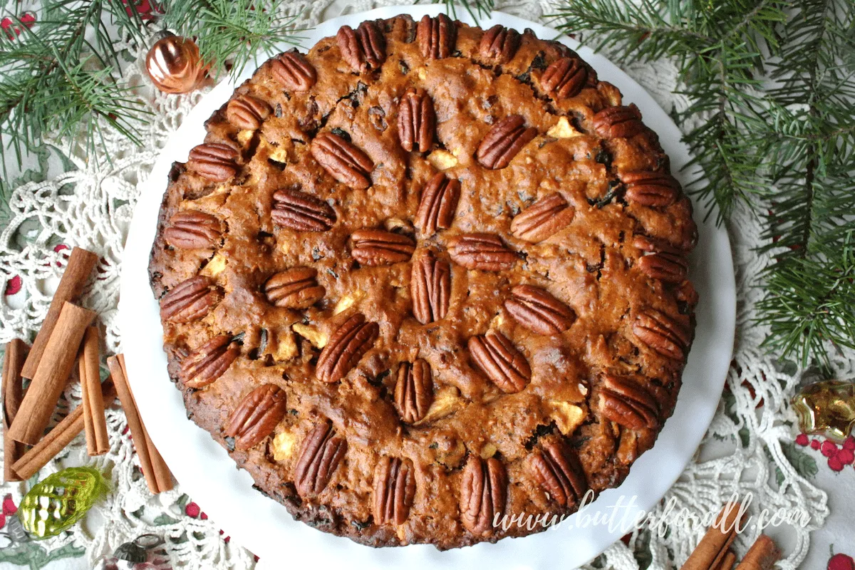
{"type": "Polygon", "coordinates": [[[804,0],[782,32],[787,40],[772,73],[768,128],[770,177],[778,192],[769,214],[759,320],[771,326],[770,349],[807,363],[828,362],[824,343],[855,343],[852,246],[855,235],[855,5],[804,0]]]}

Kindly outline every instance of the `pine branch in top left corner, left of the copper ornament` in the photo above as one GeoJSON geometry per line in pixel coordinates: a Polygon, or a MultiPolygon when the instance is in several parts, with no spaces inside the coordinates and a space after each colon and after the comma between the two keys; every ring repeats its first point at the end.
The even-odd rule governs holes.
{"type": "MultiPolygon", "coordinates": [[[[14,151],[19,165],[46,133],[82,135],[85,146],[103,147],[109,125],[136,144],[144,120],[142,103],[120,85],[109,15],[125,9],[120,0],[46,0],[34,26],[9,15],[20,35],[0,34],[0,160],[14,151]]],[[[109,159],[109,157],[108,157],[109,159]]]]}

